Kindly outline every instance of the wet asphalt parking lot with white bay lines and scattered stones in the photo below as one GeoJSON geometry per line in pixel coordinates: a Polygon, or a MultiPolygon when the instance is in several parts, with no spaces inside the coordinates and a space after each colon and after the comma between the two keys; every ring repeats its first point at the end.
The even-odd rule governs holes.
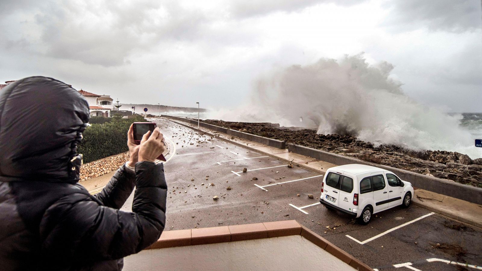
{"type": "MultiPolygon", "coordinates": [[[[481,229],[417,206],[391,208],[362,226],[319,204],[322,174],[154,121],[170,144],[166,231],[296,219],[377,270],[482,270],[481,229]]],[[[131,205],[132,195],[122,209],[131,205]]]]}

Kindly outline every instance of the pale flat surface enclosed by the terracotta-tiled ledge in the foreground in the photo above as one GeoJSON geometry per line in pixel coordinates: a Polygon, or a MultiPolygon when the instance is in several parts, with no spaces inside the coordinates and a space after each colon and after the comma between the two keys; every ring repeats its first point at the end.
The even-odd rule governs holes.
{"type": "Polygon", "coordinates": [[[124,271],[355,270],[301,235],[147,249],[124,258],[124,271]]]}

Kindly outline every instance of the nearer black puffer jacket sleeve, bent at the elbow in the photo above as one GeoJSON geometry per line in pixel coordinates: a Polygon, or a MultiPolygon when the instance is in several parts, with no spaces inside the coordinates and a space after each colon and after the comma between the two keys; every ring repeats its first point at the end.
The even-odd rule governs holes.
{"type": "Polygon", "coordinates": [[[161,236],[165,225],[166,181],[163,164],[135,165],[132,212],[100,205],[88,194],[70,194],[49,207],[40,223],[44,260],[62,264],[118,259],[137,253],[161,236]]]}

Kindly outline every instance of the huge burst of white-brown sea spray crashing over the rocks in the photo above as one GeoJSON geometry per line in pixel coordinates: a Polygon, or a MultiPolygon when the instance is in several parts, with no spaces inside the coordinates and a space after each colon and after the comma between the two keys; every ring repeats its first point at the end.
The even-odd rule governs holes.
{"type": "Polygon", "coordinates": [[[410,149],[446,150],[482,157],[460,114],[447,115],[421,105],[390,77],[393,65],[369,65],[362,54],[293,65],[259,78],[251,102],[211,118],[270,121],[313,127],[318,133],[353,135],[377,144],[410,149]]]}

